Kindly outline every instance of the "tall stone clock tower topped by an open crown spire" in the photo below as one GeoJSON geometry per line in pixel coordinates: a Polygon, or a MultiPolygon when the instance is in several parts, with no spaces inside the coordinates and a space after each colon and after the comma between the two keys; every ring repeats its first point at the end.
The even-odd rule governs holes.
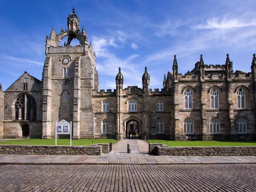
{"type": "Polygon", "coordinates": [[[96,70],[96,54],[92,44],[88,46],[84,26],[80,31],[80,20],[73,8],[67,18],[67,29],[56,33],[52,28],[46,35],[46,59],[43,70],[43,139],[55,135],[55,121],[73,123],[73,139],[94,138],[94,112],[92,91],[98,90],[99,78],[96,70]],[[58,34],[58,35],[57,35],[58,34]],[[68,37],[64,46],[60,41],[68,37]],[[79,44],[71,46],[77,38],[79,44]]]}

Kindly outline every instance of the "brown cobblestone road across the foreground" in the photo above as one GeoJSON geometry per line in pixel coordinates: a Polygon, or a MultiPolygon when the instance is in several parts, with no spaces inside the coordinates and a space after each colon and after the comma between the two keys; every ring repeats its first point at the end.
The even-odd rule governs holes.
{"type": "Polygon", "coordinates": [[[256,191],[255,164],[2,165],[1,191],[256,191]]]}

